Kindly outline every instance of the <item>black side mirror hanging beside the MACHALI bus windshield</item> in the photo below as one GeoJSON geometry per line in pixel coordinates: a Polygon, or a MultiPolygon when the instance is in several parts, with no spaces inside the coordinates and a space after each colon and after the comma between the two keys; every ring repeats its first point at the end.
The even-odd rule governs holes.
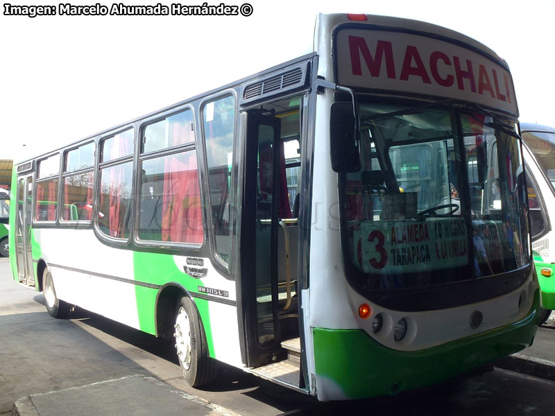
{"type": "Polygon", "coordinates": [[[353,103],[333,103],[330,114],[330,152],[334,171],[360,171],[359,137],[353,103]]]}

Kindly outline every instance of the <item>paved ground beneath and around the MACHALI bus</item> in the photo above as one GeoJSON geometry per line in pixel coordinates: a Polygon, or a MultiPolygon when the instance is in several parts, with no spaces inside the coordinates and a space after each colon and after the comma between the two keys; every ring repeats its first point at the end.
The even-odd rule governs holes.
{"type": "MultiPolygon", "coordinates": [[[[396,397],[348,403],[318,404],[311,397],[225,366],[216,383],[193,389],[182,379],[173,346],[86,311],[72,320],[51,318],[42,294],[12,280],[7,259],[0,259],[0,333],[0,416],[11,414],[12,404],[29,396],[20,401],[22,409],[28,410],[22,416],[36,416],[32,411],[39,410],[42,416],[49,411],[52,415],[135,416],[148,414],[149,406],[161,403],[164,406],[151,414],[164,415],[167,410],[167,414],[187,416],[327,416],[368,413],[368,409],[411,416],[554,414],[555,381],[501,369],[396,397]],[[85,385],[89,387],[81,388],[85,385]],[[140,401],[145,398],[148,406],[140,401]],[[192,400],[196,406],[182,400],[192,400]],[[124,403],[127,406],[121,407],[124,403]],[[113,413],[103,411],[104,405],[113,413]]],[[[552,354],[553,340],[552,320],[522,354],[552,354]]]]}

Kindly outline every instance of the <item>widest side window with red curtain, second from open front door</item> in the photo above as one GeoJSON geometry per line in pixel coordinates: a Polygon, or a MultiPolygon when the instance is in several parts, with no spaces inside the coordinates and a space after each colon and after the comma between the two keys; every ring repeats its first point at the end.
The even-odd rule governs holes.
{"type": "Polygon", "coordinates": [[[139,239],[202,244],[193,112],[186,108],[146,125],[139,158],[139,239]],[[171,150],[153,156],[153,152],[164,149],[171,150]]]}

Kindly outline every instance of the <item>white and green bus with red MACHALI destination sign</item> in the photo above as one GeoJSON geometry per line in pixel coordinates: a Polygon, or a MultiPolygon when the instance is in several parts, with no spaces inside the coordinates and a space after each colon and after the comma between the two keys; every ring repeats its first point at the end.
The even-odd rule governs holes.
{"type": "Polygon", "coordinates": [[[320,15],[309,55],[16,164],[13,276],[175,338],[193,386],[437,383],[538,327],[517,117],[479,42],[320,15]]]}

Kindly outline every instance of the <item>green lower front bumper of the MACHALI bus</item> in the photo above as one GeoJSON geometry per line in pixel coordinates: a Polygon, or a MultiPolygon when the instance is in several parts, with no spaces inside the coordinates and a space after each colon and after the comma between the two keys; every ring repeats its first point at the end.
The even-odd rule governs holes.
{"type": "Polygon", "coordinates": [[[316,378],[339,388],[349,399],[393,395],[438,383],[528,347],[538,327],[538,303],[536,291],[524,319],[415,352],[386,348],[358,329],[314,328],[316,378]]]}

